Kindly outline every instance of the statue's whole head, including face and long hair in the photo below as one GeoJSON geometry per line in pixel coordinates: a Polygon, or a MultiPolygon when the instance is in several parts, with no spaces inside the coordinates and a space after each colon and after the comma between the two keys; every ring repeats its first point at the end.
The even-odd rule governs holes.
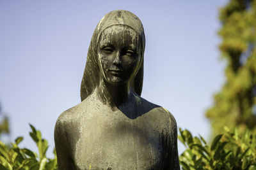
{"type": "Polygon", "coordinates": [[[81,83],[81,100],[92,94],[100,78],[113,84],[129,83],[140,95],[144,49],[144,29],[136,15],[124,10],[106,14],[92,36],[81,83]]]}

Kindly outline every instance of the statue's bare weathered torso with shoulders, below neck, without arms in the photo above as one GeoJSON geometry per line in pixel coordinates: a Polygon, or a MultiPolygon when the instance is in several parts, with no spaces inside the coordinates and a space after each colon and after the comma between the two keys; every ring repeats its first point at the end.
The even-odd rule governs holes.
{"type": "Polygon", "coordinates": [[[69,153],[76,169],[164,169],[168,164],[169,134],[175,122],[159,106],[128,118],[90,96],[62,117],[67,120],[69,153]]]}

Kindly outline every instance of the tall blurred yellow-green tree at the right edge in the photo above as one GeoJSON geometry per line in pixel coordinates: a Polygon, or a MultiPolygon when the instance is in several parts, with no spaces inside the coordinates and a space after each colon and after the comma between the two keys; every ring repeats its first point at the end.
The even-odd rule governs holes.
{"type": "Polygon", "coordinates": [[[220,10],[225,84],[206,112],[213,135],[223,127],[256,132],[256,0],[230,0],[220,10]]]}

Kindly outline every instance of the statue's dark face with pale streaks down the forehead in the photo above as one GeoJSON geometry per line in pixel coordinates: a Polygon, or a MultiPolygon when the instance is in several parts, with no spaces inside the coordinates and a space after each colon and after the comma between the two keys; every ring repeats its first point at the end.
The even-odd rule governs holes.
{"type": "Polygon", "coordinates": [[[98,45],[99,65],[104,80],[127,83],[136,74],[141,60],[136,31],[124,25],[113,25],[102,32],[98,45]]]}

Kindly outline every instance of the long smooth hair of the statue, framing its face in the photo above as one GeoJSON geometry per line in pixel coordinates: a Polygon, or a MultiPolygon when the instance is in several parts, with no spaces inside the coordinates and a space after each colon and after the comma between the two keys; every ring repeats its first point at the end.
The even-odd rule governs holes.
{"type": "Polygon", "coordinates": [[[92,40],[89,46],[86,66],[84,69],[83,79],[81,82],[81,101],[86,99],[93,90],[99,85],[99,60],[97,57],[97,48],[99,44],[100,35],[102,32],[111,25],[127,25],[134,29],[140,36],[141,43],[141,60],[139,63],[138,72],[132,78],[132,88],[136,94],[141,95],[142,84],[143,84],[143,59],[144,59],[144,50],[145,50],[145,34],[143,25],[141,24],[140,19],[131,13],[130,11],[125,10],[115,10],[107,13],[98,23],[95,31],[93,32],[92,40]]]}

